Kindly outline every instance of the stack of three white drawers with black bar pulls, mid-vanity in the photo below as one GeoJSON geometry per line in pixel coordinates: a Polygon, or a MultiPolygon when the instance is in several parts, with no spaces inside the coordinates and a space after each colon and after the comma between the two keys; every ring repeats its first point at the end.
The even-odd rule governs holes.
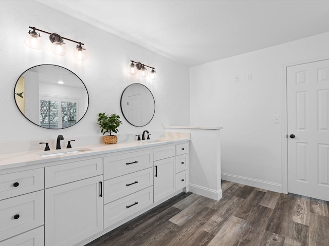
{"type": "Polygon", "coordinates": [[[153,203],[152,149],[104,157],[104,228],[153,203]]]}

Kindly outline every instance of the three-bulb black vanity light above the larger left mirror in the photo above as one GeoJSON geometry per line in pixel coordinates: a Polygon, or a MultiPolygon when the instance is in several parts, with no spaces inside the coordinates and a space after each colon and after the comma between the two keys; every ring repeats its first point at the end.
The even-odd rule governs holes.
{"type": "Polygon", "coordinates": [[[57,33],[50,33],[50,32],[47,32],[47,31],[37,29],[35,27],[29,27],[29,28],[31,28],[32,31],[29,30],[29,32],[28,32],[28,34],[27,34],[27,36],[25,37],[25,40],[24,40],[24,43],[28,47],[30,47],[32,49],[41,49],[42,48],[41,35],[40,35],[40,33],[36,32],[36,31],[40,31],[40,32],[44,32],[44,33],[47,33],[47,34],[50,35],[49,39],[50,39],[50,42],[52,43],[51,51],[54,54],[65,55],[65,53],[66,53],[66,48],[65,48],[65,43],[64,43],[64,39],[65,39],[65,40],[69,40],[71,42],[74,42],[74,43],[78,44],[75,51],[74,51],[74,53],[73,53],[74,58],[76,58],[78,60],[85,60],[87,58],[86,50],[82,46],[82,45],[84,45],[83,43],[77,42],[75,40],[72,40],[72,39],[69,39],[69,38],[66,38],[66,37],[62,37],[57,33]]]}

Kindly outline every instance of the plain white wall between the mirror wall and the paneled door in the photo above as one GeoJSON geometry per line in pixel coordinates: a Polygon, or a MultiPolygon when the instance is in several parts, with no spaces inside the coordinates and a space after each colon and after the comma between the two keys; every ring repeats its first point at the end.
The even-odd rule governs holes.
{"type": "Polygon", "coordinates": [[[223,179],[282,191],[283,68],[322,57],[329,57],[329,33],[190,68],[190,123],[223,127],[223,179]]]}

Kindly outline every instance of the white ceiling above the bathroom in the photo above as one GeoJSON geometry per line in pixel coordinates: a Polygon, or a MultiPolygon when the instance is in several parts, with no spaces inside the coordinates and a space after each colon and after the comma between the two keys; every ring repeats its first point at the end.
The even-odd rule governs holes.
{"type": "Polygon", "coordinates": [[[188,67],[329,32],[329,0],[37,1],[188,67]]]}

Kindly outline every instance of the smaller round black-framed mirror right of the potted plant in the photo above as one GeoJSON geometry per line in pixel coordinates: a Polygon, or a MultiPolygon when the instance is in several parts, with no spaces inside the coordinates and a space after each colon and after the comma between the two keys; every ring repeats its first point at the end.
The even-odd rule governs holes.
{"type": "Polygon", "coordinates": [[[135,127],[150,123],[155,113],[155,101],[152,92],[142,84],[127,86],[121,95],[123,117],[135,127]]]}

